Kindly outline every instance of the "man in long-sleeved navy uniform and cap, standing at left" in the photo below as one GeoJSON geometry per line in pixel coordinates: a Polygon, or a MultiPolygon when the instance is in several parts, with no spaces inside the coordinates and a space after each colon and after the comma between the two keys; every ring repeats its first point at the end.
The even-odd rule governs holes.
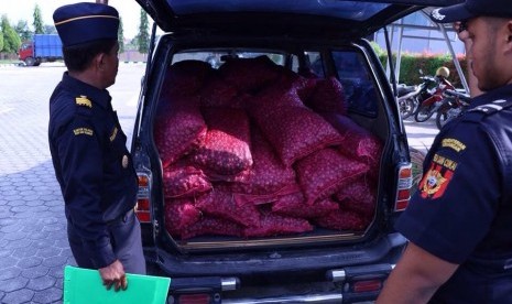
{"type": "Polygon", "coordinates": [[[109,289],[126,289],[124,272],[145,273],[138,181],[111,97],[118,72],[119,14],[99,3],[54,12],[67,72],[50,99],[48,139],[65,202],[73,256],[98,269],[109,289]]]}

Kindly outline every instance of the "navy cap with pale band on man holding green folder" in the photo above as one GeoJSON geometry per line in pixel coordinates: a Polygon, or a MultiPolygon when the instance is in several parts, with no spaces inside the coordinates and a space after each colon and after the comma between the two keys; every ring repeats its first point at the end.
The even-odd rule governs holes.
{"type": "Polygon", "coordinates": [[[53,21],[64,46],[118,39],[119,13],[107,4],[81,2],[61,7],[53,21]]]}

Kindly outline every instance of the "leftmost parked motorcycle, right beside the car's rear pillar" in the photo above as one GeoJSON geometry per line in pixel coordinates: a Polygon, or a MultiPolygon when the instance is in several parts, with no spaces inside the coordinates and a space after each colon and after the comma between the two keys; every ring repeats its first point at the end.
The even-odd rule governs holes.
{"type": "Polygon", "coordinates": [[[400,116],[402,119],[407,119],[413,116],[423,100],[432,96],[429,88],[436,83],[432,76],[420,77],[423,82],[417,86],[399,85],[399,97],[396,102],[399,105],[400,116]]]}

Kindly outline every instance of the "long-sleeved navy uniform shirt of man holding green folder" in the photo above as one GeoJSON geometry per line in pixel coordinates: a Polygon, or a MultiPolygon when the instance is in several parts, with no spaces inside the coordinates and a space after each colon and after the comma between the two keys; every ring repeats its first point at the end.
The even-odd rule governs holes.
{"type": "Polygon", "coordinates": [[[109,265],[107,224],[134,207],[138,182],[108,91],[65,73],[50,99],[48,139],[68,225],[95,267],[109,265]]]}

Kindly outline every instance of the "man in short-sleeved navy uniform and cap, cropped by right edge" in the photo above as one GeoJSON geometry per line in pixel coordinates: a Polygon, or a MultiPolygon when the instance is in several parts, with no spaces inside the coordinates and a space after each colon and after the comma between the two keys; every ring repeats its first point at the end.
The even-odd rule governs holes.
{"type": "Polygon", "coordinates": [[[378,303],[512,303],[512,6],[466,0],[431,18],[462,22],[483,94],[434,141],[378,303]]]}

